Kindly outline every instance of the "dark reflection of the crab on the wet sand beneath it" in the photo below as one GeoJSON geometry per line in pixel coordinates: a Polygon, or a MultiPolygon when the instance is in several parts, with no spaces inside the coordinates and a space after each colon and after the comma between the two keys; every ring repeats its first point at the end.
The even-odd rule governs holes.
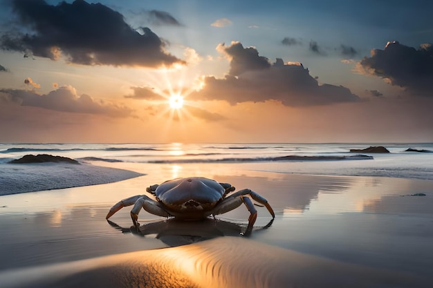
{"type": "Polygon", "coordinates": [[[177,247],[186,244],[210,240],[221,236],[250,236],[252,231],[267,229],[273,224],[271,219],[263,227],[254,227],[252,230],[247,229],[246,224],[229,222],[220,219],[206,218],[201,221],[183,221],[170,218],[163,221],[149,222],[136,228],[120,227],[115,222],[107,220],[109,224],[122,231],[122,233],[133,233],[137,236],[156,235],[155,238],[169,245],[177,247]]]}

